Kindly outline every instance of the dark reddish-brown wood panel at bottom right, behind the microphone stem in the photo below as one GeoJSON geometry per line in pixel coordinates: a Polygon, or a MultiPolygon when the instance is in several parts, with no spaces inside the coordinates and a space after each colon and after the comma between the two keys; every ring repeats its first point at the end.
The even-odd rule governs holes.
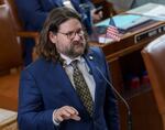
{"type": "MultiPolygon", "coordinates": [[[[133,130],[163,130],[152,89],[140,93],[128,99],[132,111],[133,130]]],[[[120,101],[121,130],[128,130],[127,109],[120,101]]]]}

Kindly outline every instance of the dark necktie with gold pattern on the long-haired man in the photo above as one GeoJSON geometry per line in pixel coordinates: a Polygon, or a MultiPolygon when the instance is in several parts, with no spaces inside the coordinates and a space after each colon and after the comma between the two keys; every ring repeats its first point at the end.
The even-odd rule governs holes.
{"type": "Polygon", "coordinates": [[[84,106],[86,107],[87,111],[89,112],[89,115],[91,117],[92,109],[94,109],[94,101],[92,101],[89,88],[86,84],[86,80],[82,76],[82,73],[79,71],[79,68],[77,66],[77,62],[78,61],[72,62],[72,66],[74,68],[73,79],[74,79],[75,88],[76,88],[76,91],[79,95],[81,101],[84,102],[84,106]]]}

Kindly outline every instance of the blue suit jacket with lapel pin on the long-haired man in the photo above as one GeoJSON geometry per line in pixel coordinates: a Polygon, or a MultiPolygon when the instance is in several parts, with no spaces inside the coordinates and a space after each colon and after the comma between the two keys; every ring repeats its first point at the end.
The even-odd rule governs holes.
{"type": "Polygon", "coordinates": [[[96,82],[92,118],[77,96],[62,64],[38,58],[21,75],[18,115],[20,130],[119,130],[116,97],[96,68],[109,79],[105,55],[98,47],[94,47],[84,57],[96,82]],[[55,127],[53,111],[63,106],[76,108],[80,121],[66,120],[55,127]]]}

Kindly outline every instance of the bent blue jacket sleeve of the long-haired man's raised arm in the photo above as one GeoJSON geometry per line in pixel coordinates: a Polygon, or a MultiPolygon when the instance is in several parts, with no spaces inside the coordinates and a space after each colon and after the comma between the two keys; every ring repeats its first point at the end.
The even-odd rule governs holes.
{"type": "Polygon", "coordinates": [[[19,130],[56,130],[53,109],[44,110],[44,105],[35,78],[22,72],[19,89],[19,130]]]}

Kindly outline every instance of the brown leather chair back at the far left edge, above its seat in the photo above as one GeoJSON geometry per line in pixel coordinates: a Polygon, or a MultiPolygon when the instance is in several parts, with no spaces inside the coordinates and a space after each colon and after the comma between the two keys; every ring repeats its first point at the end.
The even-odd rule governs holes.
{"type": "Polygon", "coordinates": [[[22,65],[22,50],[13,31],[8,6],[0,6],[0,74],[22,65]]]}

